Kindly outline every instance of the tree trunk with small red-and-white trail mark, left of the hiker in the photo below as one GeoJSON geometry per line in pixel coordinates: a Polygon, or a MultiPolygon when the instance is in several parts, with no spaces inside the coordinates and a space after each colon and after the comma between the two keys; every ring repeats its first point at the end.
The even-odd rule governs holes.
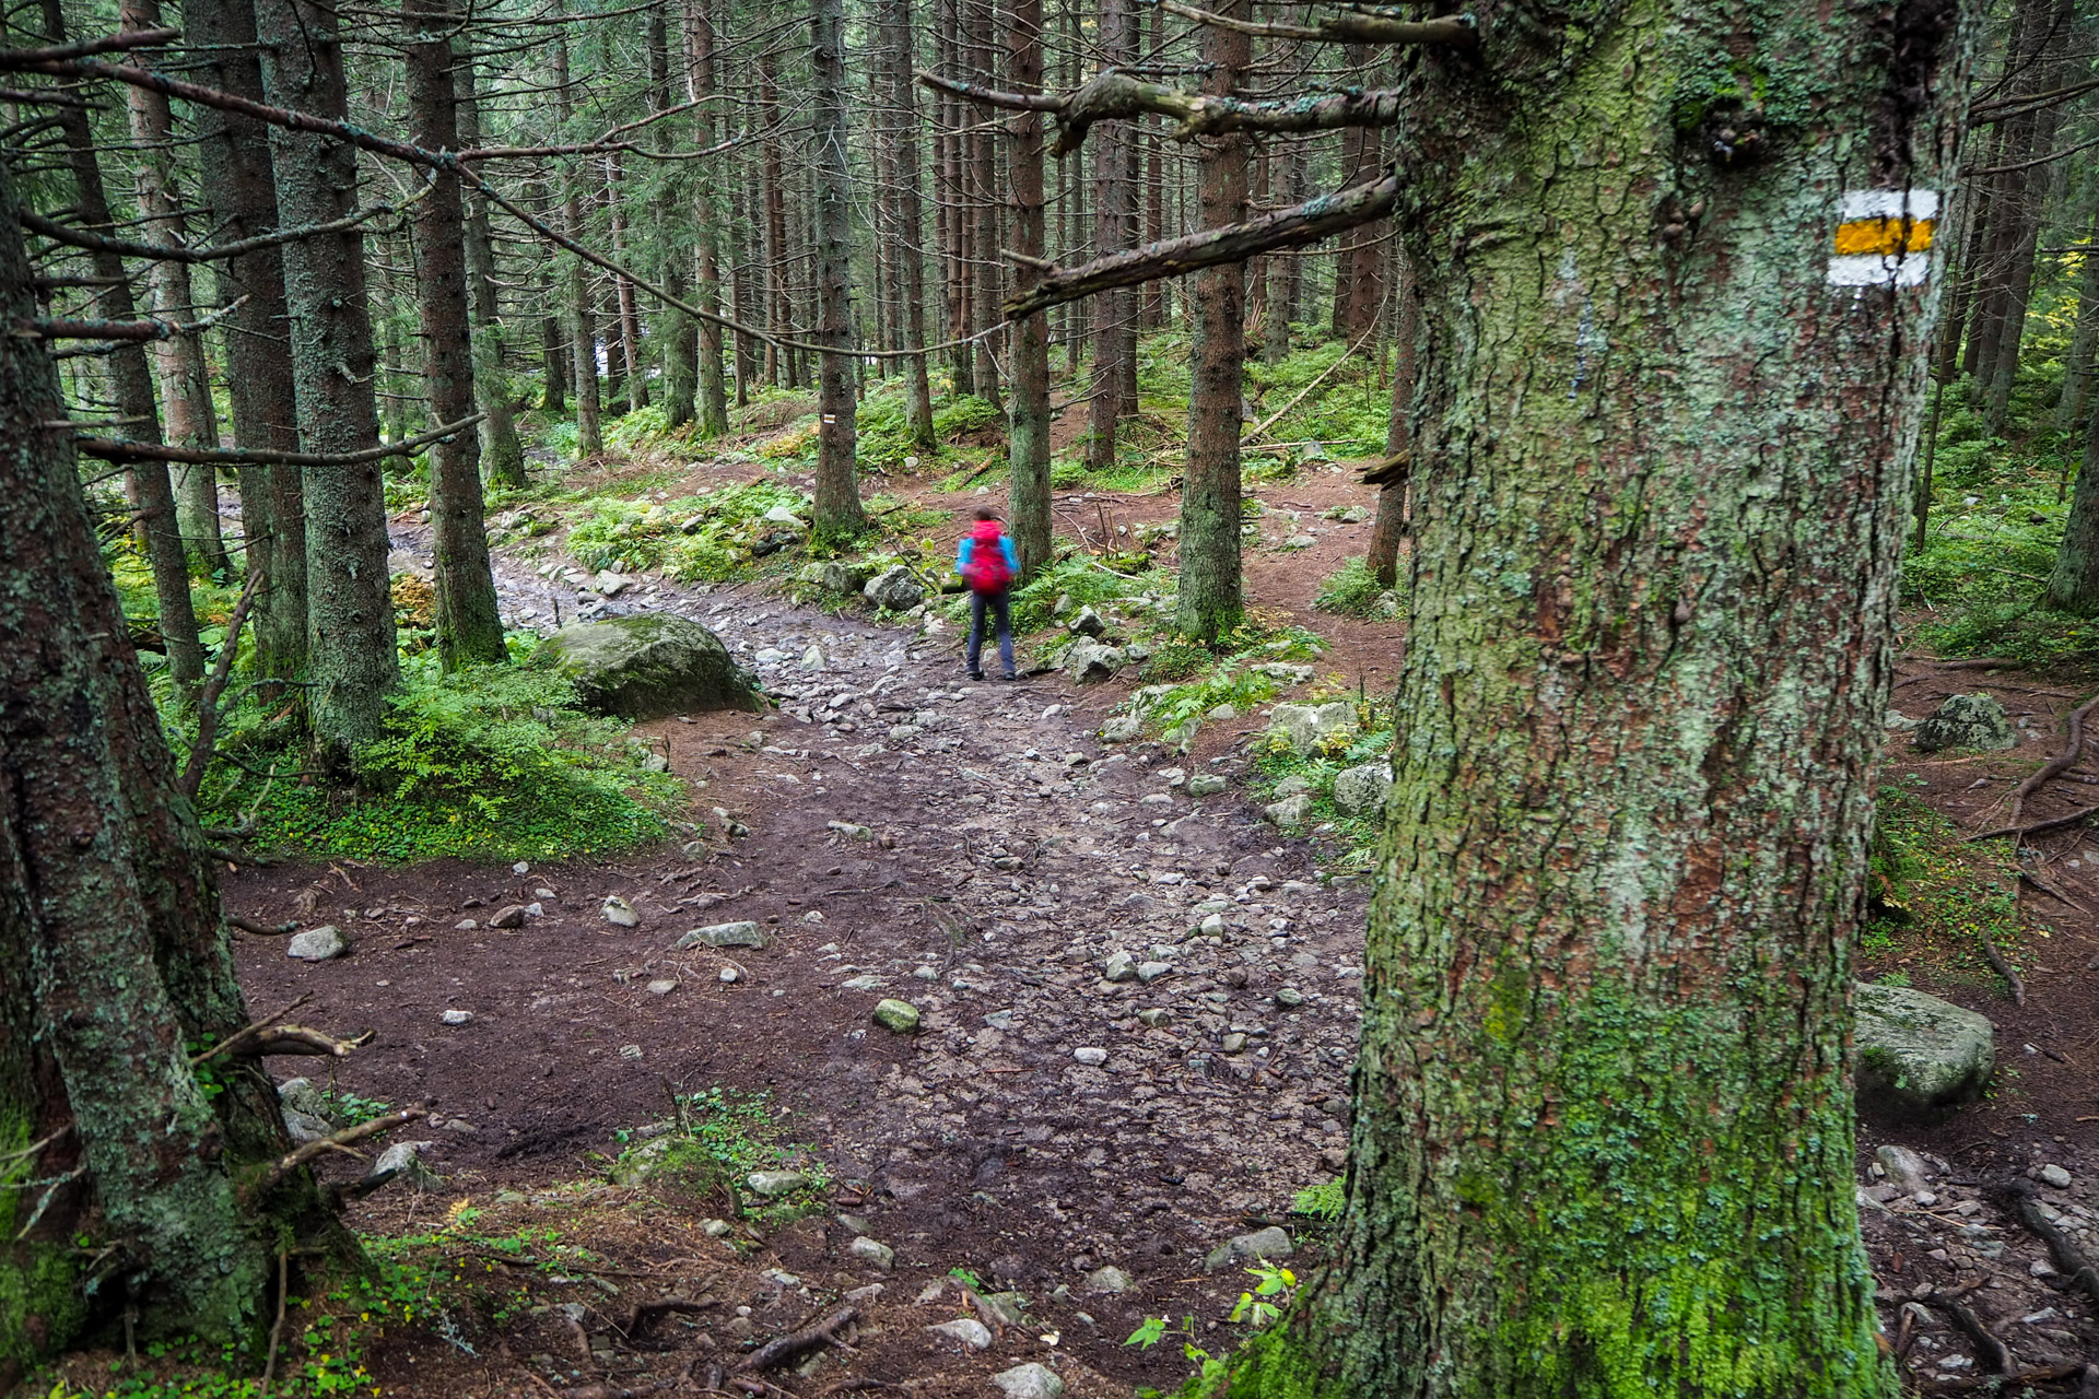
{"type": "Polygon", "coordinates": [[[810,61],[817,69],[817,518],[827,541],[867,533],[854,476],[852,354],[852,172],[846,166],[846,4],[810,0],[810,61]]]}

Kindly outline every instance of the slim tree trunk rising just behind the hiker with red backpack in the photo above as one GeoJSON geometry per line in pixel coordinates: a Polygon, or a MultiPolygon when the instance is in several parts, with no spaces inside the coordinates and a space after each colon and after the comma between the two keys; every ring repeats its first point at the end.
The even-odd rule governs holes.
{"type": "MultiPolygon", "coordinates": [[[[1016,92],[1043,86],[1043,4],[1005,2],[1005,67],[1016,92]]],[[[1043,256],[1043,120],[1022,111],[1012,126],[1010,178],[1014,189],[1014,252],[1043,256]]],[[[1018,262],[1016,281],[1024,289],[1041,277],[1018,262]]],[[[1008,428],[1012,461],[1010,514],[1020,577],[1033,577],[1050,562],[1050,317],[1035,313],[1014,327],[1014,409],[1008,428]]]]}

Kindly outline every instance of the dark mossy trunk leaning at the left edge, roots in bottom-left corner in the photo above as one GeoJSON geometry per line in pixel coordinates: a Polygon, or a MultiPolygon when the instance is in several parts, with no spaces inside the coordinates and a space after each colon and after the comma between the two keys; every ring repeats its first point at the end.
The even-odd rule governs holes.
{"type": "MultiPolygon", "coordinates": [[[[0,168],[8,321],[36,315],[15,218],[0,168]]],[[[290,1147],[269,1078],[191,1068],[248,1015],[73,453],[38,430],[63,415],[44,346],[0,338],[0,1386],[126,1300],[141,1340],[260,1365],[275,1229],[315,1221],[304,1175],[239,1189],[290,1147]]]]}

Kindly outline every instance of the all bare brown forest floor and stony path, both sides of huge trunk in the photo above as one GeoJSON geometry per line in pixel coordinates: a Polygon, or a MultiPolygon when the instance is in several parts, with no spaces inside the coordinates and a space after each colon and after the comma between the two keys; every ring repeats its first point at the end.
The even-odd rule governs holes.
{"type": "MultiPolygon", "coordinates": [[[[749,476],[747,464],[695,464],[672,493],[749,476]]],[[[898,495],[955,512],[942,541],[978,503],[898,495]]],[[[1257,495],[1272,537],[1249,550],[1249,602],[1320,633],[1322,671],[1390,690],[1398,625],[1310,606],[1371,531],[1318,516],[1373,493],[1329,468],[1257,495]],[[1289,531],[1316,539],[1278,552],[1289,531]]],[[[1058,493],[1060,531],[1169,520],[1175,505],[1171,493],[1058,493]]],[[[424,562],[411,516],[395,539],[397,568],[424,562]]],[[[548,543],[497,552],[506,617],[579,606],[575,587],[542,577],[548,543]]],[[[697,814],[722,808],[747,835],[605,862],[279,864],[225,883],[229,910],[336,923],[353,944],[309,965],[243,938],[250,1005],[304,996],[302,1024],[374,1030],[336,1068],[336,1091],[432,1112],[397,1137],[432,1143],[443,1181],[351,1212],[390,1240],[378,1252],[397,1296],[376,1303],[378,1321],[407,1305],[420,1319],[382,1328],[355,1292],[313,1303],[315,1315],[367,1307],[363,1378],[401,1395],[720,1391],[751,1342],[850,1305],[838,1332],[850,1344],[768,1370],[768,1393],[991,1395],[989,1376],[1039,1361],[1091,1397],[1173,1389],[1190,1370],[1184,1344],[1224,1353],[1243,1338],[1228,1317],[1253,1286],[1245,1261],[1205,1261],[1268,1227],[1287,1231],[1293,1263],[1320,1252],[1322,1225],[1291,1208],[1345,1158],[1366,904],[1360,879],[1322,873],[1335,852],[1318,835],[1280,835],[1243,789],[1264,717],[1211,724],[1188,753],[1104,747],[1098,728],[1133,675],[972,684],[953,627],[877,625],[758,585],[644,577],[609,610],[707,623],[781,701],[640,730],[691,782],[697,814]],[[1192,799],[1194,774],[1232,787],[1192,799]],[[607,921],[609,896],[634,908],[634,927],[607,921]],[[544,917],[489,927],[518,904],[544,917]],[[1203,933],[1211,914],[1222,927],[1203,933]],[[733,921],[768,946],[674,946],[733,921]],[[1115,950],[1165,971],[1108,982],[1115,950]],[[919,1009],[915,1034],[871,1019],[884,996],[919,1009]],[[468,1017],[447,1024],[447,1011],[468,1017]],[[680,1168],[688,1158],[657,1145],[686,1137],[739,1175],[680,1168]],[[766,1198],[745,1187],[747,1166],[806,1179],[766,1198]],[[661,1300],[678,1307],[651,1309],[661,1300]],[[1125,1344],[1148,1317],[1165,1317],[1165,1344],[1125,1344]],[[976,1326],[928,1330],[951,1321],[976,1326]]],[[[1908,663],[1895,705],[1918,717],[1975,688],[2026,719],[2021,751],[1918,759],[1891,732],[1883,776],[1958,831],[1992,820],[2082,698],[2072,684],[1908,663]]],[[[2028,820],[2082,803],[2084,787],[2059,780],[2028,820]]],[[[2093,1298],[2063,1288],[1990,1193],[2059,1166],[2070,1185],[2042,1198],[2089,1252],[2099,1242],[2099,849],[2086,837],[2032,839],[2030,868],[2059,898],[2009,889],[2023,900],[2023,946],[2009,952],[2023,1005],[1958,921],[1868,944],[1866,975],[1906,975],[1998,1026],[2002,1070],[1984,1103],[1935,1126],[1860,1128],[1883,1321],[1923,1389],[1990,1370],[1954,1328],[1954,1298],[2019,1372],[2072,1376],[2099,1357],[2093,1298]],[[1874,1177],[1881,1143],[1927,1156],[1931,1202],[1874,1177]]],[[[340,1344],[351,1321],[302,1326],[311,1351],[340,1344]]],[[[2036,1393],[2076,1384],[2034,1380],[2036,1393]]]]}

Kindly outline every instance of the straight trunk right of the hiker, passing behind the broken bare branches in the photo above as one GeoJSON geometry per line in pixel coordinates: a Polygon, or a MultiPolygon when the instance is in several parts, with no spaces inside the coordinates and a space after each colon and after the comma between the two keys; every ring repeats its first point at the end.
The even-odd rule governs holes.
{"type": "MultiPolygon", "coordinates": [[[[1224,0],[1220,15],[1251,19],[1251,4],[1224,0]]],[[[1203,92],[1230,96],[1253,61],[1253,42],[1234,29],[1203,29],[1203,92]]],[[[1203,227],[1247,218],[1245,136],[1201,143],[1203,227]]],[[[1238,568],[1238,426],[1245,403],[1245,266],[1228,262],[1194,277],[1194,336],[1188,344],[1188,468],[1180,510],[1180,606],[1173,627],[1215,642],[1245,615],[1238,568]]]]}

